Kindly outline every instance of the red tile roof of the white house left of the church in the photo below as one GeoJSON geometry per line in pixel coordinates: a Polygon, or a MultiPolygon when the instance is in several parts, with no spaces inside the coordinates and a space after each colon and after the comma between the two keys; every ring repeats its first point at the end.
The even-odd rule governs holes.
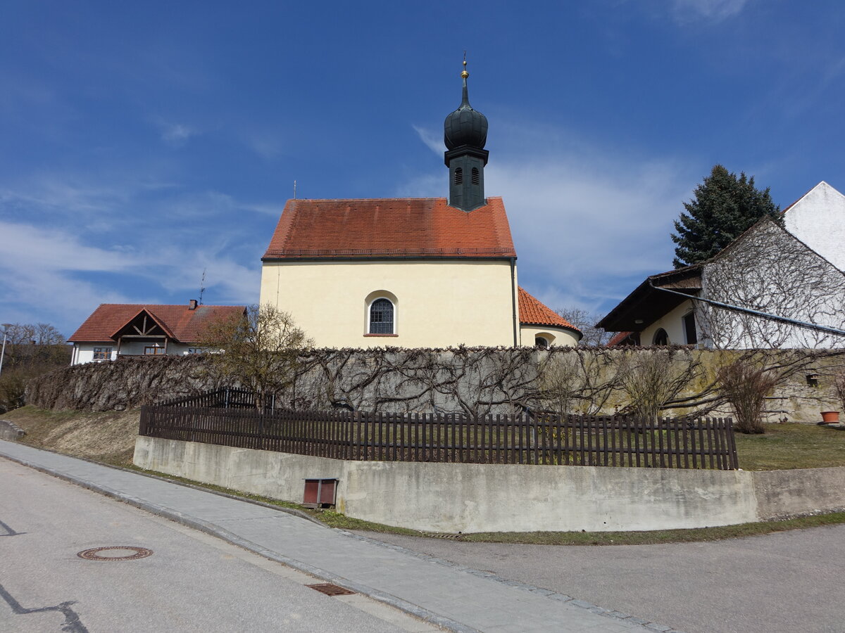
{"type": "Polygon", "coordinates": [[[114,340],[112,336],[145,310],[180,343],[196,343],[203,328],[211,321],[243,314],[245,306],[162,306],[128,303],[101,303],[79,326],[71,342],[101,342],[114,340]]]}

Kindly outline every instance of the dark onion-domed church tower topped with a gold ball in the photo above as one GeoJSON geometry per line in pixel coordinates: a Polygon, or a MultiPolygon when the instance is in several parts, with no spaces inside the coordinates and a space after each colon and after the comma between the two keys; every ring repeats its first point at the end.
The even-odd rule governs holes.
{"type": "Polygon", "coordinates": [[[444,162],[449,167],[449,204],[461,211],[472,211],[487,204],[484,197],[484,165],[489,152],[487,116],[473,110],[466,90],[466,59],[461,78],[464,81],[461,106],[446,116],[443,140],[446,143],[444,162]]]}

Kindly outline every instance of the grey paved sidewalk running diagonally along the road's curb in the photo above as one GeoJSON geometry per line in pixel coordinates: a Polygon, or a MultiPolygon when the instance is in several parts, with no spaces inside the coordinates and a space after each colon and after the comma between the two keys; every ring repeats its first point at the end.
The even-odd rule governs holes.
{"type": "Polygon", "coordinates": [[[234,500],[14,442],[0,456],[224,538],[434,624],[485,633],[654,633],[668,626],[234,500]]]}

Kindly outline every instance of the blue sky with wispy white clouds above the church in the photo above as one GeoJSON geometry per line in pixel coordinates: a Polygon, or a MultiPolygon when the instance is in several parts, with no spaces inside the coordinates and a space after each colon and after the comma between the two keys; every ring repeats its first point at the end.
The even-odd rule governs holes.
{"type": "Polygon", "coordinates": [[[521,285],[608,311],[713,164],[782,207],[845,191],[843,32],[825,0],[6,2],[0,322],[69,335],[204,269],[205,303],[253,303],[294,180],[445,196],[465,49],[521,285]]]}

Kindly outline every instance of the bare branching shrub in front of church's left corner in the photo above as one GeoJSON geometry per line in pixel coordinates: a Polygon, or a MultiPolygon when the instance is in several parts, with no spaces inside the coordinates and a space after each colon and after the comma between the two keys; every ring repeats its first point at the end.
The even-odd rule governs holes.
{"type": "Polygon", "coordinates": [[[212,322],[200,347],[209,351],[219,376],[239,382],[255,393],[255,406],[290,386],[300,367],[300,354],[311,340],[287,312],[270,304],[248,306],[246,313],[212,322]]]}

